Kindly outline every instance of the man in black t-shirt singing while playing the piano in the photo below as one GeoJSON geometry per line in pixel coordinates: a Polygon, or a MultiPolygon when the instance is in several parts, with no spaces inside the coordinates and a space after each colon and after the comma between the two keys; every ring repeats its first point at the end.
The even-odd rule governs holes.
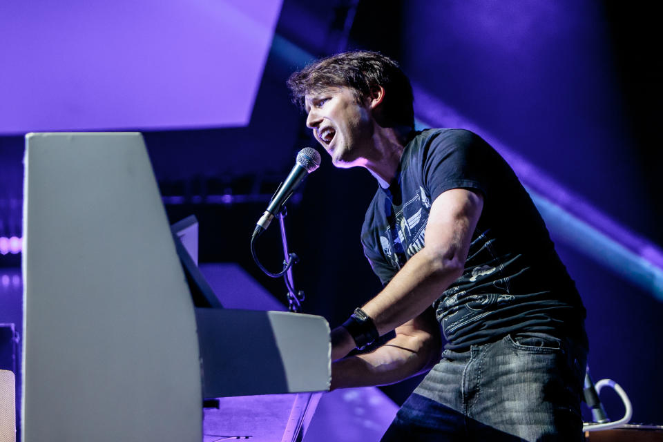
{"type": "Polygon", "coordinates": [[[288,85],[334,165],[378,181],[361,241],[384,287],[332,331],[332,388],[430,370],[383,441],[582,440],[585,309],[510,166],[469,131],[415,131],[410,81],[376,52],[288,85]]]}

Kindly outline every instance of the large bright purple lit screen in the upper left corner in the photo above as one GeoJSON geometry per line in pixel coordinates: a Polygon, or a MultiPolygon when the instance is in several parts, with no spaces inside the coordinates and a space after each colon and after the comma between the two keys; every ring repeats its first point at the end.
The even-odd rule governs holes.
{"type": "Polygon", "coordinates": [[[3,2],[0,133],[245,126],[281,3],[3,2]]]}

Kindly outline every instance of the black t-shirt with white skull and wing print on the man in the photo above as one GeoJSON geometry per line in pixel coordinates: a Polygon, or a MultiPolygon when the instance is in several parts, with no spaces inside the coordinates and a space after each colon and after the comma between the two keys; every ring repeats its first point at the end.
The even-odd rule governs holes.
{"type": "Polygon", "coordinates": [[[396,179],[378,188],[364,253],[384,285],[424,246],[432,201],[449,189],[483,194],[463,276],[433,303],[449,349],[513,332],[583,338],[585,309],[530,196],[478,135],[428,129],[405,146],[396,179]]]}

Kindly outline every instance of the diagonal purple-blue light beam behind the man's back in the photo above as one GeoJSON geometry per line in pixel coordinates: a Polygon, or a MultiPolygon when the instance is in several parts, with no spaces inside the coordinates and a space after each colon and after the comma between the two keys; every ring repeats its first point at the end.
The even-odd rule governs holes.
{"type": "Polygon", "coordinates": [[[418,84],[413,84],[421,127],[462,127],[480,133],[512,166],[553,235],[663,300],[663,251],[553,180],[512,148],[499,142],[418,84]]]}

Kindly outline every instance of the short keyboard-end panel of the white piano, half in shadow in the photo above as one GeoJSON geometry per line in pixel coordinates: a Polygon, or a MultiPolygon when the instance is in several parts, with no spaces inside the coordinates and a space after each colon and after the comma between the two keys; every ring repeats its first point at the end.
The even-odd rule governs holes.
{"type": "Polygon", "coordinates": [[[325,318],[195,309],[206,398],[321,392],[332,378],[325,318]]]}

